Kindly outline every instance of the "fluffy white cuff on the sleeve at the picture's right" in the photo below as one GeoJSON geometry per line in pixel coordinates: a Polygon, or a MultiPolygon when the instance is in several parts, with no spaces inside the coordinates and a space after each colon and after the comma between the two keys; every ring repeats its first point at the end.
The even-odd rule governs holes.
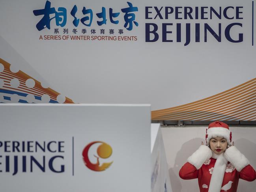
{"type": "Polygon", "coordinates": [[[235,166],[237,171],[249,165],[249,160],[235,146],[226,149],[224,157],[235,166]]]}

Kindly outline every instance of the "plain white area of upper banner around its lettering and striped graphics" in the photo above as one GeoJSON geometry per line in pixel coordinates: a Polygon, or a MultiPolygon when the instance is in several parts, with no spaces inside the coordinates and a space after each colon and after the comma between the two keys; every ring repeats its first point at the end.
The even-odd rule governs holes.
{"type": "MultiPolygon", "coordinates": [[[[126,36],[136,36],[137,41],[58,41],[39,40],[40,35],[55,35],[54,19],[51,29],[38,31],[37,22],[42,16],[35,16],[33,10],[43,9],[46,0],[12,0],[0,2],[0,58],[19,67],[22,71],[37,79],[47,82],[50,88],[62,93],[78,103],[151,103],[152,110],[186,104],[199,99],[220,93],[233,88],[243,82],[255,78],[256,65],[254,64],[255,46],[252,46],[252,1],[241,0],[175,0],[175,1],[130,1],[138,7],[134,12],[138,27],[133,24],[133,30],[126,30],[122,8],[128,7],[126,1],[120,0],[51,0],[51,6],[67,9],[67,24],[72,35],[74,25],[70,11],[77,5],[77,17],[82,16],[82,7],[93,10],[92,26],[90,30],[104,28],[123,29],[126,36]],[[227,6],[243,7],[240,17],[243,19],[145,19],[145,7],[162,6],[213,6],[216,10],[227,6]],[[98,26],[96,13],[101,8],[109,8],[113,12],[120,12],[117,18],[119,24],[110,23],[107,15],[107,24],[98,26]],[[228,24],[239,22],[243,27],[235,26],[231,36],[238,38],[243,33],[243,42],[231,43],[224,35],[228,24]],[[158,25],[159,40],[146,42],[145,24],[158,25]],[[162,42],[163,23],[173,23],[168,30],[168,39],[174,42],[162,42]],[[176,23],[181,23],[181,42],[176,42],[176,23]],[[191,24],[191,43],[184,46],[185,23],[191,24]],[[200,23],[200,42],[195,42],[195,23],[200,23]],[[204,42],[204,23],[209,24],[218,33],[218,24],[222,24],[221,42],[218,42],[207,32],[207,42],[204,42]],[[184,90],[186,94],[184,93],[184,90]],[[163,94],[159,94],[159,92],[163,94]]],[[[150,17],[156,15],[154,8],[150,17]]],[[[164,8],[161,13],[164,15],[164,8]]],[[[182,9],[183,10],[183,9],[182,9]]],[[[193,9],[194,10],[194,9],[193,9]]],[[[209,17],[209,8],[206,13],[209,17]]],[[[182,11],[183,12],[183,11],[182,11]]],[[[193,12],[194,13],[194,12],[193,12]]],[[[234,11],[230,9],[228,15],[232,17],[234,11]]],[[[100,19],[98,19],[100,20],[100,19]]],[[[78,25],[77,35],[82,35],[84,26],[78,25]]],[[[86,27],[85,27],[86,28],[86,27]]],[[[74,34],[73,34],[74,35],[74,34]]],[[[105,34],[108,35],[109,34],[105,34]]],[[[111,35],[110,35],[111,36],[111,35]]]]}

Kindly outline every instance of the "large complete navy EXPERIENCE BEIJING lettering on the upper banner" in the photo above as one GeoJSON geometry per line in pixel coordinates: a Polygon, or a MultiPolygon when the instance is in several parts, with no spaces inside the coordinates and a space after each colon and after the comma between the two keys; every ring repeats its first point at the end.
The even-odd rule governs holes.
{"type": "Polygon", "coordinates": [[[148,6],[145,7],[145,19],[156,21],[146,22],[146,42],[156,42],[162,35],[162,42],[183,41],[186,46],[191,41],[202,42],[204,39],[203,41],[207,42],[208,34],[218,42],[221,42],[223,37],[232,43],[243,41],[243,33],[237,32],[243,28],[243,6],[148,6]],[[234,20],[235,22],[230,22],[234,20]],[[237,35],[231,35],[232,30],[235,30],[237,35]]]}

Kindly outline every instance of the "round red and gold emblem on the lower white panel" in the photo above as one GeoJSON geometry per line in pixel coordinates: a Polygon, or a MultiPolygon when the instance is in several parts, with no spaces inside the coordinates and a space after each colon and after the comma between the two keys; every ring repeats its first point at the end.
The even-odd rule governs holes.
{"type": "MultiPolygon", "coordinates": [[[[96,152],[96,151],[95,151],[96,152]]],[[[86,145],[86,147],[84,147],[84,150],[82,152],[82,156],[83,156],[83,160],[84,160],[84,164],[86,165],[86,167],[88,167],[90,170],[93,171],[104,171],[106,170],[112,163],[112,162],[104,162],[103,164],[100,164],[100,160],[99,158],[108,158],[112,155],[112,148],[110,145],[106,144],[105,142],[101,142],[101,141],[95,141],[95,142],[91,142],[90,144],[86,145]],[[93,164],[90,159],[89,159],[89,155],[88,155],[88,151],[90,149],[90,147],[92,147],[92,145],[94,144],[100,144],[97,147],[97,155],[93,155],[95,158],[97,158],[97,162],[95,164],[93,164]]]]}

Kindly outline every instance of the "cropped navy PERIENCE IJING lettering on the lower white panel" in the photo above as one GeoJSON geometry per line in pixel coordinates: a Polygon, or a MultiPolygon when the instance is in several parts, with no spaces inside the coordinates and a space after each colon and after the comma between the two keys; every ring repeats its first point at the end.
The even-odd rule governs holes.
{"type": "Polygon", "coordinates": [[[0,172],[63,173],[64,141],[0,141],[0,172]]]}

